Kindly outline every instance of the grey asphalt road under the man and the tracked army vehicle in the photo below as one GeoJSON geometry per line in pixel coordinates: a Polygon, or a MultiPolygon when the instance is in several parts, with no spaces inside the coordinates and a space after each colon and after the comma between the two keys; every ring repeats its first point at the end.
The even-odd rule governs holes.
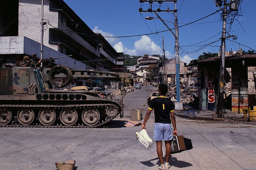
{"type": "MultiPolygon", "coordinates": [[[[157,170],[155,142],[151,148],[144,148],[135,138],[141,126],[124,126],[132,109],[143,110],[145,116],[152,90],[155,88],[143,86],[127,93],[124,117],[100,128],[0,127],[0,170],[55,170],[55,162],[67,160],[76,161],[75,170],[157,170]]],[[[146,124],[151,137],[153,113],[146,124]]],[[[178,135],[191,139],[193,149],[172,154],[171,170],[256,170],[255,124],[178,116],[176,122],[178,135]]]]}

